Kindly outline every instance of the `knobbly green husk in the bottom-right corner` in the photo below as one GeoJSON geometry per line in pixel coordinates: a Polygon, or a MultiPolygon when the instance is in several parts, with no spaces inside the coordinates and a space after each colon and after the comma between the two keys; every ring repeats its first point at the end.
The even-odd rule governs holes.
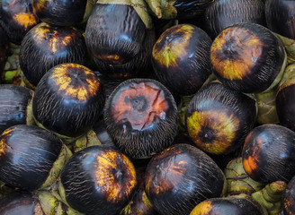
{"type": "Polygon", "coordinates": [[[252,197],[268,211],[269,215],[275,215],[282,210],[282,194],[286,186],[283,181],[275,181],[252,193],[252,197]]]}

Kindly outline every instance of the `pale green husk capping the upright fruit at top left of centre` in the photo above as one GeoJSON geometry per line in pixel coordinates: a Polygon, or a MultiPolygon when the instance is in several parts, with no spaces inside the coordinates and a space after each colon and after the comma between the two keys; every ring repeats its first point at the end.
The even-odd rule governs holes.
{"type": "Polygon", "coordinates": [[[124,4],[130,5],[139,14],[147,29],[153,28],[152,18],[148,13],[148,5],[144,0],[98,0],[96,4],[124,4]]]}

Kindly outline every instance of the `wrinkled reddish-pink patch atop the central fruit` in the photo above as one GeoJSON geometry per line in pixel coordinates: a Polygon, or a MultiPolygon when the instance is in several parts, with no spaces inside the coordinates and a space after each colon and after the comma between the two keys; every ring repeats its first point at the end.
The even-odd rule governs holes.
{"type": "Polygon", "coordinates": [[[143,130],[165,120],[169,105],[165,92],[152,82],[131,83],[119,90],[112,100],[112,118],[116,124],[143,130]]]}

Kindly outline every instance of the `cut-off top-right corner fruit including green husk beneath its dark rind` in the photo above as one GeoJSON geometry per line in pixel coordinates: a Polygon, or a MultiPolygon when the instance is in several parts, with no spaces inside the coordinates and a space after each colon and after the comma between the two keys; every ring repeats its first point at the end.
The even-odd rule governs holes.
{"type": "Polygon", "coordinates": [[[282,40],[288,60],[295,62],[295,2],[286,0],[265,1],[265,18],[267,28],[282,40]]]}

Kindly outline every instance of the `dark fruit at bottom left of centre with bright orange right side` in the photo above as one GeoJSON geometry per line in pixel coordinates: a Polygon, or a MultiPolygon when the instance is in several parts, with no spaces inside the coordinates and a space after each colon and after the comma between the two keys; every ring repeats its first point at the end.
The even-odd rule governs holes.
{"type": "Polygon", "coordinates": [[[85,214],[117,214],[136,188],[136,171],[130,159],[111,145],[79,150],[60,175],[64,200],[85,214]]]}

